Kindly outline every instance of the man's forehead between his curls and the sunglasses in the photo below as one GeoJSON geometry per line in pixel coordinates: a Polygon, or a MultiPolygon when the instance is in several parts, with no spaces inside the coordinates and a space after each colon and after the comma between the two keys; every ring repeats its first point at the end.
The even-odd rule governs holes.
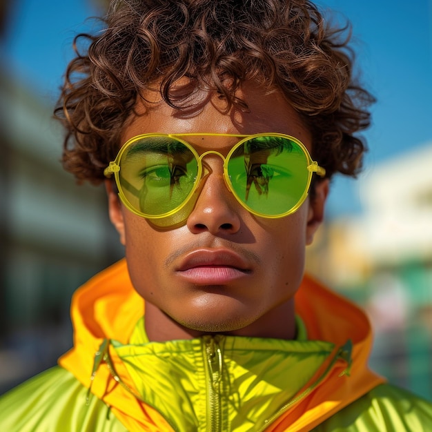
{"type": "MultiPolygon", "coordinates": [[[[173,108],[162,99],[159,91],[148,91],[145,100],[137,101],[135,114],[124,129],[122,144],[136,135],[152,132],[242,135],[280,132],[300,139],[307,148],[311,147],[311,132],[281,92],[244,85],[236,96],[246,102],[247,110],[233,106],[227,111],[226,101],[206,90],[193,92],[184,106],[173,108]]],[[[226,137],[224,142],[200,137],[194,142],[194,137],[190,137],[188,141],[203,148],[223,148],[232,145],[235,139],[226,137]]]]}

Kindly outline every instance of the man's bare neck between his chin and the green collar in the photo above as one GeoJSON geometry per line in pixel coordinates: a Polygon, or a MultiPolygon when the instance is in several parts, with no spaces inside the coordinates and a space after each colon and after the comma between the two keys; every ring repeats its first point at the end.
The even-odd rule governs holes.
{"type": "MultiPolygon", "coordinates": [[[[166,342],[168,340],[193,339],[211,332],[194,330],[183,326],[157,308],[146,302],[146,333],[150,342],[166,342]]],[[[217,332],[215,332],[217,334],[217,332]]],[[[294,299],[279,305],[262,317],[233,331],[226,331],[224,335],[267,337],[291,340],[295,338],[295,310],[294,299]]]]}

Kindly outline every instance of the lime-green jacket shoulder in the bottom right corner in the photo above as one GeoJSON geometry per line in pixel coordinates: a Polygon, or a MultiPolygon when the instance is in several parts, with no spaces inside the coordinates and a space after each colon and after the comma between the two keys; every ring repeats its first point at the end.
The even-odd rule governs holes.
{"type": "Polygon", "coordinates": [[[391,384],[382,384],[314,431],[432,431],[432,402],[391,384]]]}

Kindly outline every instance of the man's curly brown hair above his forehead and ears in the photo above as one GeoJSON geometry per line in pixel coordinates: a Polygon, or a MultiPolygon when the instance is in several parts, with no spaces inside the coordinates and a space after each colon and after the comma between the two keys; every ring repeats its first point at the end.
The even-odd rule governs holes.
{"type": "Polygon", "coordinates": [[[327,26],[311,1],[116,0],[103,23],[75,38],[55,109],[67,130],[63,166],[77,179],[104,179],[137,97],[159,83],[175,106],[181,77],[219,92],[228,108],[244,104],[235,97],[244,81],[277,88],[311,129],[326,177],[360,169],[365,145],[354,134],[369,126],[373,97],[353,79],[348,26],[327,26]]]}

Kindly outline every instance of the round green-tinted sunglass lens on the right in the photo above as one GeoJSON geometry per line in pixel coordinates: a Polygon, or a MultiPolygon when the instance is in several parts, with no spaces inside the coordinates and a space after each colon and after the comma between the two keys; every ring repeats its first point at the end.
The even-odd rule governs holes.
{"type": "Polygon", "coordinates": [[[227,169],[237,199],[268,216],[295,209],[311,177],[302,147],[275,136],[244,141],[230,156],[227,169]]]}

